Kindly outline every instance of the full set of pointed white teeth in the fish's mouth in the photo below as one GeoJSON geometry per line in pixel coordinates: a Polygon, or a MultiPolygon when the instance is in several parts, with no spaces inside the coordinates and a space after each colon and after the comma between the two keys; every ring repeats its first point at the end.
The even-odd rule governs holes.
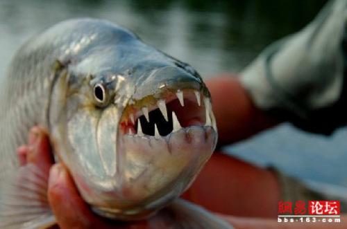
{"type": "MultiPolygon", "coordinates": [[[[201,94],[200,94],[200,92],[194,91],[194,95],[195,95],[196,102],[197,102],[198,106],[201,107],[201,94]]],[[[176,91],[176,96],[178,98],[178,101],[180,102],[180,105],[182,107],[184,107],[185,104],[184,104],[184,98],[183,98],[183,96],[184,96],[183,91],[181,91],[181,90],[176,91]]],[[[211,106],[210,98],[203,97],[203,103],[205,104],[205,126],[213,127],[214,130],[217,131],[216,121],[214,119],[214,115],[212,112],[212,106],[211,106]]],[[[165,100],[164,99],[158,100],[157,106],[158,106],[158,109],[160,110],[160,112],[162,113],[164,120],[169,122],[167,104],[165,103],[165,100]]],[[[146,118],[146,121],[150,122],[149,108],[148,107],[142,107],[141,111],[142,111],[144,117],[146,118]]],[[[141,116],[141,114],[139,114],[139,116],[141,116]]],[[[137,116],[137,117],[139,117],[139,116],[137,116]]],[[[137,118],[137,120],[135,120],[133,113],[129,114],[129,119],[133,123],[133,125],[135,125],[135,122],[138,120],[137,121],[138,122],[137,123],[137,133],[135,134],[135,136],[145,136],[146,134],[144,134],[144,132],[142,130],[142,122],[140,121],[140,119],[137,118]]],[[[144,120],[142,120],[142,121],[144,121],[144,120]]],[[[178,120],[176,113],[174,111],[172,111],[172,132],[179,131],[182,128],[183,127],[180,125],[180,121],[178,120]]],[[[134,135],[132,130],[129,130],[128,134],[134,135]]],[[[160,137],[161,136],[160,136],[159,131],[158,131],[158,126],[157,126],[157,124],[154,124],[154,138],[160,138],[160,137]]]]}

